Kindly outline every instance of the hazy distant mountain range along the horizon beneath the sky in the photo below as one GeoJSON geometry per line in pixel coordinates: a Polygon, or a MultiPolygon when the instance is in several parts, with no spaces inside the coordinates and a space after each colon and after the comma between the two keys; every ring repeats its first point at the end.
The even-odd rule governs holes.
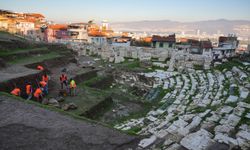
{"type": "Polygon", "coordinates": [[[250,21],[248,20],[207,20],[197,22],[177,22],[171,20],[136,21],[111,23],[114,30],[120,31],[146,31],[167,33],[194,33],[200,34],[229,34],[236,33],[241,36],[250,36],[250,21]]]}

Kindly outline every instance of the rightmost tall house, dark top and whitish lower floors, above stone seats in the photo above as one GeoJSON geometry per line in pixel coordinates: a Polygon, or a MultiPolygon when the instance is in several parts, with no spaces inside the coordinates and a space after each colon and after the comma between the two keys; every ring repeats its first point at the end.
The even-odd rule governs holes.
{"type": "Polygon", "coordinates": [[[223,59],[235,56],[239,40],[235,35],[220,36],[218,47],[213,49],[214,59],[223,59]]]}

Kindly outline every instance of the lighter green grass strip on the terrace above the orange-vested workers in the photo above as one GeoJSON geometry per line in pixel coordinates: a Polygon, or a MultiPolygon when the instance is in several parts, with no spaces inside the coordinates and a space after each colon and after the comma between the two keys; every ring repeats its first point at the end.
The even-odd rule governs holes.
{"type": "Polygon", "coordinates": [[[56,52],[50,52],[48,54],[43,54],[43,55],[37,55],[37,56],[30,56],[30,57],[25,57],[25,58],[17,58],[15,60],[11,60],[8,62],[8,64],[28,64],[28,63],[36,63],[36,62],[41,62],[46,59],[52,59],[52,58],[57,58],[60,57],[61,55],[56,53],[56,52]]]}

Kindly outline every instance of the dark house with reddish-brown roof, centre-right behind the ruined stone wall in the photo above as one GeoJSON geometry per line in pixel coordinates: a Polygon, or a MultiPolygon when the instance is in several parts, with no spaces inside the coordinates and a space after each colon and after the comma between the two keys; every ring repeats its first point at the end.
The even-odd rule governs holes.
{"type": "Polygon", "coordinates": [[[153,35],[151,47],[153,48],[175,48],[175,34],[169,36],[153,35]]]}

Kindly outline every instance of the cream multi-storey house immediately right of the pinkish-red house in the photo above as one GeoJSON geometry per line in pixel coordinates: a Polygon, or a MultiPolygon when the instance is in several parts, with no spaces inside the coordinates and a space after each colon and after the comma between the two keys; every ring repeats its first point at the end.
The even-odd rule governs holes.
{"type": "Polygon", "coordinates": [[[72,23],[68,26],[68,33],[74,41],[88,40],[88,23],[72,23]]]}

